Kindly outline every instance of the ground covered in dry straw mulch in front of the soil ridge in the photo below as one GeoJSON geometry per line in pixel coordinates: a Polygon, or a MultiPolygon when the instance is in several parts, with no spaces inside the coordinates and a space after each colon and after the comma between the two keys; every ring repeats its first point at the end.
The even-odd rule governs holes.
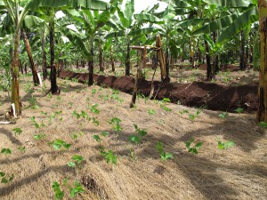
{"type": "MultiPolygon", "coordinates": [[[[12,149],[10,155],[0,154],[0,172],[7,178],[14,175],[8,184],[0,183],[0,199],[53,199],[53,181],[61,184],[64,199],[70,198],[69,188],[76,181],[84,185],[85,192],[74,199],[267,198],[267,135],[255,124],[254,114],[229,113],[223,119],[219,117],[222,111],[144,99],[130,109],[129,94],[58,81],[61,95],[44,97],[44,89],[32,88],[31,78],[21,78],[22,116],[16,124],[0,124],[0,149],[12,149]],[[85,111],[94,117],[94,123],[77,118],[74,111],[85,111]],[[44,127],[36,129],[32,116],[44,127]],[[121,119],[121,132],[109,124],[114,117],[121,119]],[[137,145],[128,141],[136,134],[134,124],[148,133],[137,145]],[[15,135],[14,128],[22,129],[20,135],[15,135]],[[101,132],[109,135],[102,137],[101,132]],[[36,140],[38,134],[44,138],[36,140]],[[107,164],[101,156],[95,134],[102,138],[106,151],[117,155],[117,165],[107,164]],[[203,142],[198,155],[185,146],[192,138],[203,142]],[[57,139],[71,144],[69,150],[56,150],[49,144],[57,139]],[[236,145],[220,150],[218,140],[231,140],[236,145]],[[160,159],[158,141],[173,154],[173,160],[160,159]],[[25,152],[20,152],[20,147],[25,147],[25,152]],[[85,158],[76,169],[67,165],[75,155],[85,158]],[[63,180],[67,177],[66,185],[63,180]]],[[[48,90],[49,82],[44,84],[48,90]]],[[[10,107],[6,92],[0,92],[0,101],[2,113],[10,107]]]]}

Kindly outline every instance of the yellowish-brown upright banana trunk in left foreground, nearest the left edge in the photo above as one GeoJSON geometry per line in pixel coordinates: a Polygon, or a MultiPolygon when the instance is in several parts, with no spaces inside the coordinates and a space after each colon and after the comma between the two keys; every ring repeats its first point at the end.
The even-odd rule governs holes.
{"type": "MultiPolygon", "coordinates": [[[[18,23],[18,22],[17,22],[18,23]]],[[[12,55],[12,104],[14,104],[15,110],[12,110],[12,115],[20,116],[20,84],[19,84],[19,72],[20,72],[20,28],[15,28],[14,35],[14,49],[12,55]]]]}

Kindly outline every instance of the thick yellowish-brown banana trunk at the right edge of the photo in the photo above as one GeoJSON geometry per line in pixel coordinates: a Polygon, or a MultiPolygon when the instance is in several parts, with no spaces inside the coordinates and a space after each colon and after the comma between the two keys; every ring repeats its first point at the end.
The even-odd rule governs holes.
{"type": "Polygon", "coordinates": [[[259,0],[259,34],[261,41],[261,59],[257,111],[257,122],[267,123],[267,0],[259,0]]]}

